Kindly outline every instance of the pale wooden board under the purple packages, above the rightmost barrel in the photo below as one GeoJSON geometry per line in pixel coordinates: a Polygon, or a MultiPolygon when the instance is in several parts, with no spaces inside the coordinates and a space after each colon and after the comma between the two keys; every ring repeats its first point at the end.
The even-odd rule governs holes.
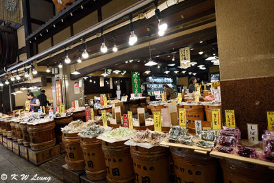
{"type": "Polygon", "coordinates": [[[214,157],[214,158],[229,158],[232,160],[239,160],[242,162],[249,162],[249,163],[253,163],[253,164],[259,164],[265,167],[269,167],[269,169],[274,169],[274,162],[268,162],[268,161],[264,161],[264,160],[258,160],[258,159],[253,159],[253,158],[246,158],[246,157],[242,157],[242,156],[238,156],[236,154],[227,154],[227,153],[222,153],[219,151],[211,151],[210,152],[210,156],[214,157]]]}

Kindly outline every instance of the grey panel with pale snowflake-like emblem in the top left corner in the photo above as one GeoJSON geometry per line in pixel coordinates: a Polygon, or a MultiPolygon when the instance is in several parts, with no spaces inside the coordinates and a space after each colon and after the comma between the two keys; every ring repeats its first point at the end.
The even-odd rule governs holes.
{"type": "Polygon", "coordinates": [[[0,20],[6,23],[21,25],[21,12],[19,0],[0,1],[0,20]]]}

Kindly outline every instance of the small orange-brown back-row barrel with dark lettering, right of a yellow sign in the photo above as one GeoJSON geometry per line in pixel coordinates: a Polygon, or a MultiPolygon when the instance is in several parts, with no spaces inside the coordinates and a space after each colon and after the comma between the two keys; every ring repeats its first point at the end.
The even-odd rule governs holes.
{"type": "Polygon", "coordinates": [[[195,122],[195,120],[203,121],[204,114],[203,114],[203,106],[184,106],[186,109],[186,120],[188,123],[195,122]]]}

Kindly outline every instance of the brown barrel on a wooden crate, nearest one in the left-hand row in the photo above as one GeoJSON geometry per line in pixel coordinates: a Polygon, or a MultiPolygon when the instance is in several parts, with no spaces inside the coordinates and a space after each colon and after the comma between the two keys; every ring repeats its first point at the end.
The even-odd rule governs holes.
{"type": "Polygon", "coordinates": [[[54,133],[55,122],[38,123],[36,125],[28,124],[27,132],[29,132],[30,147],[34,151],[48,149],[56,143],[54,133]]]}

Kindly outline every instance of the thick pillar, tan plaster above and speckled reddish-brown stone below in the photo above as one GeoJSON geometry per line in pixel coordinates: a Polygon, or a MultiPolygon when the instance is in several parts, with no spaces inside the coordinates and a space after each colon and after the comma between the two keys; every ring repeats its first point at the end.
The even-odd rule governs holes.
{"type": "Polygon", "coordinates": [[[236,125],[247,138],[247,123],[267,128],[274,110],[274,1],[215,0],[221,97],[235,110],[236,125]]]}

